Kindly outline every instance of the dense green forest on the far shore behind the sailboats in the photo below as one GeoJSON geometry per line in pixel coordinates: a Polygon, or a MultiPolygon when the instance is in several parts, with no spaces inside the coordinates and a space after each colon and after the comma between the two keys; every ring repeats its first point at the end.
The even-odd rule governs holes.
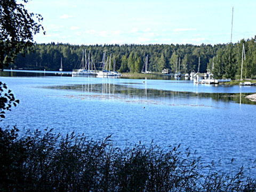
{"type": "Polygon", "coordinates": [[[217,45],[70,45],[62,43],[35,44],[33,51],[23,51],[10,66],[13,69],[46,69],[59,70],[60,60],[64,71],[81,67],[82,50],[86,50],[87,59],[95,63],[97,70],[102,69],[102,56],[106,50],[106,60],[111,68],[115,56],[116,70],[121,73],[141,73],[143,63],[148,55],[148,71],[161,72],[164,68],[177,70],[180,62],[181,73],[198,71],[205,73],[211,70],[215,78],[231,78],[241,75],[242,50],[245,46],[243,60],[243,78],[254,78],[256,75],[256,36],[242,39],[237,43],[217,45]],[[25,54],[26,57],[22,57],[25,54]]]}

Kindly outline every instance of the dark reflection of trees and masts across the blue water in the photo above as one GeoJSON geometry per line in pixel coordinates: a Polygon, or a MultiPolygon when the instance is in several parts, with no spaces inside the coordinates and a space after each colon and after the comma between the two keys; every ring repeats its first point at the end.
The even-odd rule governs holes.
{"type": "MultiPolygon", "coordinates": [[[[97,94],[122,94],[122,98],[131,99],[155,99],[161,98],[173,99],[173,98],[212,98],[216,101],[224,102],[236,102],[243,104],[255,105],[256,103],[246,99],[245,97],[251,93],[194,93],[194,92],[182,92],[182,91],[168,91],[168,90],[156,90],[135,88],[132,83],[122,84],[83,84],[83,85],[65,85],[65,86],[46,86],[47,89],[64,89],[64,90],[76,90],[81,92],[90,92],[97,94]]],[[[135,83],[137,84],[137,83],[135,83]]]]}

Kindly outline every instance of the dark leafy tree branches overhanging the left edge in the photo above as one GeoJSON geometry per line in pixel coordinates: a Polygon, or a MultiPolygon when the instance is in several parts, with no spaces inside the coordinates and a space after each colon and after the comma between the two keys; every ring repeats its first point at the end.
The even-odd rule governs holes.
{"type": "MultiPolygon", "coordinates": [[[[23,0],[27,3],[27,0],[23,0]]],[[[39,14],[29,13],[23,4],[15,0],[0,1],[0,70],[14,62],[17,54],[24,55],[30,52],[33,45],[33,35],[39,33],[43,27],[38,22],[43,18],[39,14]]],[[[0,118],[5,117],[4,110],[11,110],[19,100],[15,100],[6,84],[0,82],[0,118]]]]}

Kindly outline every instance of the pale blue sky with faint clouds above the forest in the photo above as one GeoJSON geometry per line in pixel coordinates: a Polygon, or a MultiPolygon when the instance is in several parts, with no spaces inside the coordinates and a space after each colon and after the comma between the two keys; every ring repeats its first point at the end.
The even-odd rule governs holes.
{"type": "Polygon", "coordinates": [[[226,44],[256,35],[255,0],[29,0],[46,35],[37,43],[226,44]]]}

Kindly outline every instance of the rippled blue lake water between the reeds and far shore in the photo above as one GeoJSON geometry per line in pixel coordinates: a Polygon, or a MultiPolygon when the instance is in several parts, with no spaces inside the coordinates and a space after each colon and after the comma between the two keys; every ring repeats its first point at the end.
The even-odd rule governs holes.
{"type": "MultiPolygon", "coordinates": [[[[256,86],[197,85],[161,79],[71,77],[58,73],[1,72],[17,107],[0,127],[46,127],[62,134],[112,134],[121,148],[141,142],[181,144],[221,169],[252,166],[256,159],[256,105],[244,98],[256,86]]],[[[256,177],[256,171],[252,174],[256,177]]]]}

